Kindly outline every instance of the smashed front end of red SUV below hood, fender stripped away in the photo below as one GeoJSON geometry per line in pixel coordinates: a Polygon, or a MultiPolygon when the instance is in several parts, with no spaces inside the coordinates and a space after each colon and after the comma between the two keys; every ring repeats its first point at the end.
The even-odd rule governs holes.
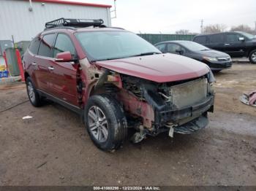
{"type": "Polygon", "coordinates": [[[194,133],[208,125],[207,112],[214,111],[211,71],[194,79],[161,83],[89,64],[81,66],[91,89],[83,100],[102,93],[115,97],[124,108],[129,127],[138,130],[134,142],[165,131],[171,137],[173,133],[194,133]]]}

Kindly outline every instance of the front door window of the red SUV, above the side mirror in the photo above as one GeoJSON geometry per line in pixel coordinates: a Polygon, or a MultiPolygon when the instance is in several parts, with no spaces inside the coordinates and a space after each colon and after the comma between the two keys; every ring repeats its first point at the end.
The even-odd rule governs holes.
{"type": "Polygon", "coordinates": [[[70,52],[73,57],[75,57],[75,47],[69,39],[69,36],[65,34],[58,34],[55,46],[53,48],[53,58],[60,52],[70,52]]]}

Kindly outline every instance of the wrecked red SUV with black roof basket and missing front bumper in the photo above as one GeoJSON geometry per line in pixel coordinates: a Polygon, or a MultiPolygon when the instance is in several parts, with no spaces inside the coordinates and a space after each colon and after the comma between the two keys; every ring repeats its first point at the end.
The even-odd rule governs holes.
{"type": "Polygon", "coordinates": [[[118,149],[168,131],[194,133],[214,109],[214,76],[204,63],[163,54],[102,20],[54,20],[23,55],[33,106],[48,98],[83,117],[99,149],[118,149]]]}

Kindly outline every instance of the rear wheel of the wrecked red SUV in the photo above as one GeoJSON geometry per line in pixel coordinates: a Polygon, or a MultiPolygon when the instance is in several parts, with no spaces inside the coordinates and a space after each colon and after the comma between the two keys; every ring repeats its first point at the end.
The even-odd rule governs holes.
{"type": "Polygon", "coordinates": [[[28,93],[29,101],[33,106],[42,106],[42,98],[37,92],[31,77],[27,77],[26,79],[26,92],[28,93]]]}

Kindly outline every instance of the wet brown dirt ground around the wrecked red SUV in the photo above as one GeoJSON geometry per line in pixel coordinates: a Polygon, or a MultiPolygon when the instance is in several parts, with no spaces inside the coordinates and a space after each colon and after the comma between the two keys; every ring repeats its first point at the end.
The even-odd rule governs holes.
{"type": "Polygon", "coordinates": [[[94,147],[77,114],[53,103],[34,108],[25,85],[1,86],[0,111],[23,104],[0,112],[0,185],[256,185],[256,108],[239,101],[256,89],[256,66],[215,76],[208,128],[127,141],[114,153],[94,147]]]}

